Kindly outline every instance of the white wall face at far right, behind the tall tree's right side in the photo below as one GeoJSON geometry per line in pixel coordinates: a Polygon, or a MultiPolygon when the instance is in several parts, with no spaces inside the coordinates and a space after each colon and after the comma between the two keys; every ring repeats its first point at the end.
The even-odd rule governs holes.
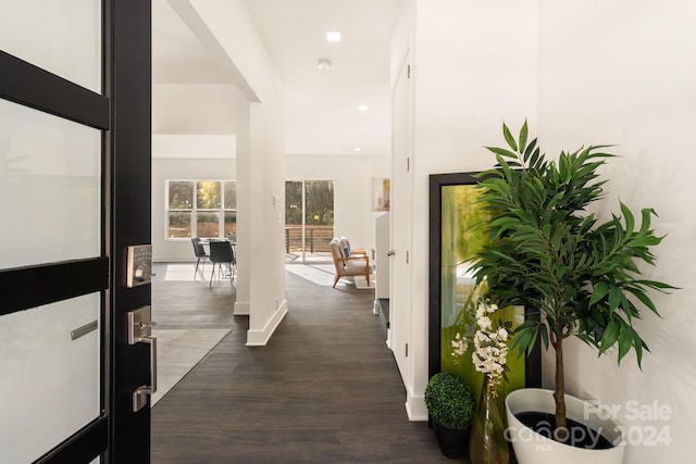
{"type": "MultiPolygon", "coordinates": [[[[616,352],[600,360],[581,343],[567,352],[570,392],[619,405],[618,419],[633,426],[633,441],[650,427],[672,443],[635,443],[625,462],[686,462],[696,421],[696,237],[693,201],[696,167],[696,3],[692,0],[539,2],[539,140],[547,153],[581,145],[613,143],[605,170],[609,196],[599,205],[620,212],[655,208],[652,226],[667,235],[647,278],[682,287],[656,294],[663,319],[645,314],[636,326],[650,347],[643,372],[634,354],[617,366],[616,352]],[[592,24],[592,29],[587,26],[592,24]],[[629,421],[626,401],[671,407],[668,421],[629,421]]],[[[545,365],[546,377],[552,374],[545,365]]],[[[552,385],[547,379],[547,385],[552,385]]]]}

